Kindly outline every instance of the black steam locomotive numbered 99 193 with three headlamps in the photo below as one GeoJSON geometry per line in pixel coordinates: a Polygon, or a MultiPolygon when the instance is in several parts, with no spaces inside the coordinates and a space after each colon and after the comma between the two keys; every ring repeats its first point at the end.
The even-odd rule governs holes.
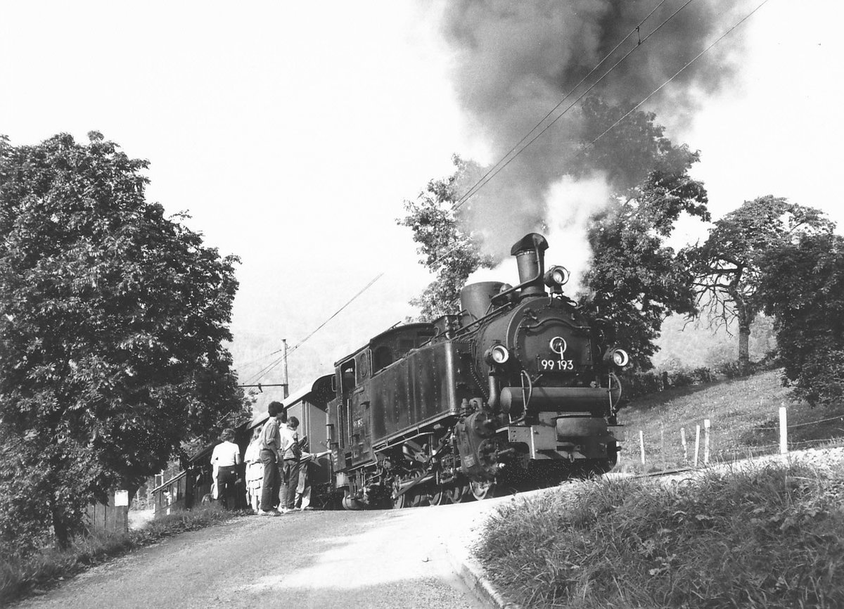
{"type": "Polygon", "coordinates": [[[519,283],[473,283],[462,310],[393,327],[335,364],[328,443],[347,509],[484,499],[606,472],[623,430],[625,351],[545,270],[548,242],[513,245],[519,283]]]}

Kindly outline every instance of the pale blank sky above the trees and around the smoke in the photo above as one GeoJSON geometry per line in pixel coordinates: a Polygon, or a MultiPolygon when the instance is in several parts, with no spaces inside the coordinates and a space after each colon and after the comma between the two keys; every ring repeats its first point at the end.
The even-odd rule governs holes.
{"type": "MultiPolygon", "coordinates": [[[[724,8],[711,39],[760,2],[695,0],[724,8]]],[[[601,0],[572,6],[590,3],[601,0]]],[[[474,81],[444,27],[453,7],[5,0],[0,133],[30,144],[58,132],[86,141],[97,130],[149,159],[148,199],[187,210],[207,245],[241,258],[231,345],[241,382],[283,382],[286,339],[295,391],[415,314],[408,300],[430,276],[396,224],[403,201],[448,175],[452,154],[490,163],[506,144],[467,104],[474,81]]],[[[714,218],[774,194],[844,225],[842,17],[836,0],[768,0],[734,33],[742,42],[724,86],[701,91],[692,113],[665,100],[648,106],[669,137],[701,151],[693,175],[706,183],[714,218]]],[[[463,26],[471,37],[473,22],[463,26]]],[[[540,110],[524,110],[523,120],[540,110]]],[[[565,138],[564,127],[544,137],[565,138]]],[[[677,242],[705,229],[682,222],[677,242]]],[[[556,248],[554,236],[549,261],[583,263],[576,236],[556,248]]],[[[500,241],[509,249],[509,236],[500,241]]],[[[512,265],[500,272],[513,281],[512,265]]]]}

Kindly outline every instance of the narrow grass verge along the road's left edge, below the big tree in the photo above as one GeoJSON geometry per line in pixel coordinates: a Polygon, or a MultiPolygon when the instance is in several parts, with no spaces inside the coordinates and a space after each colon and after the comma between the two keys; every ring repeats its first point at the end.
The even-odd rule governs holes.
{"type": "Polygon", "coordinates": [[[196,531],[232,517],[218,506],[175,512],[150,520],[126,535],[79,537],[67,550],[46,548],[26,557],[5,557],[0,562],[0,606],[30,592],[40,592],[57,581],[165,537],[196,531]]]}

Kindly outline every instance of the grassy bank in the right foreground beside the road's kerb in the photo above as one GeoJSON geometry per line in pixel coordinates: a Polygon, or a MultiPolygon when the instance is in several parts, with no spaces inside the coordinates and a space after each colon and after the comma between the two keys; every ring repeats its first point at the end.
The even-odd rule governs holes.
{"type": "Polygon", "coordinates": [[[844,606],[844,471],[596,480],[502,506],[477,557],[530,607],[844,606]]]}

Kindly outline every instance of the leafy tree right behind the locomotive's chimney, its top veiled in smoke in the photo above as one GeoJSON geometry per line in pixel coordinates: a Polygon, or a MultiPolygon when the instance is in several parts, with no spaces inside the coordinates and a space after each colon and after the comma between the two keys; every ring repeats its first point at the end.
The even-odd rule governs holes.
{"type": "Polygon", "coordinates": [[[587,227],[592,261],[582,304],[609,321],[636,368],[649,369],[666,316],[695,310],[689,272],[665,240],[683,213],[709,219],[706,189],[689,175],[700,157],[665,137],[652,112],[627,114],[598,98],[583,112],[587,146],[572,172],[602,171],[611,197],[587,227]]]}

